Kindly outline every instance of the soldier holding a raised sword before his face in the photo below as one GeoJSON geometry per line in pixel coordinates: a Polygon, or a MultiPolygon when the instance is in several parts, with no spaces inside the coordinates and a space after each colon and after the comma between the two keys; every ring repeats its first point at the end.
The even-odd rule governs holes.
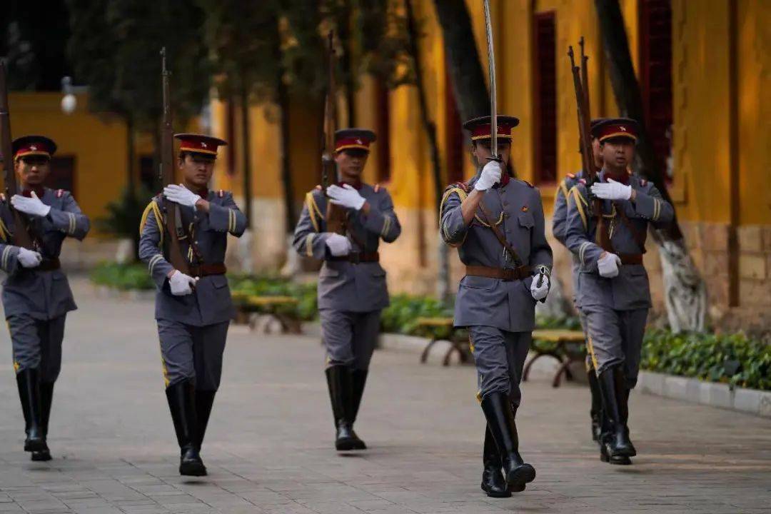
{"type": "Polygon", "coordinates": [[[445,190],[439,228],[466,265],[455,325],[469,329],[477,397],[487,418],[482,489],[505,497],[535,479],[535,469],[519,452],[515,418],[535,304],[548,294],[552,257],[539,191],[508,171],[511,130],[519,120],[497,117],[500,163],[490,160],[490,121],[483,116],[463,125],[471,133],[479,170],[468,183],[445,190]]]}

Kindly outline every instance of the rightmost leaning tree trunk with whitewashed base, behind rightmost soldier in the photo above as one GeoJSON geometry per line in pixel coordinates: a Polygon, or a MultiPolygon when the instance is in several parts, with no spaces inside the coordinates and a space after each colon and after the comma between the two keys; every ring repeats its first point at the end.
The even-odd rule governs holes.
{"type": "MultiPolygon", "coordinates": [[[[635,69],[632,67],[624,17],[621,15],[618,0],[594,0],[594,6],[597,8],[605,58],[608,59],[611,86],[618,110],[621,116],[635,119],[640,124],[635,169],[648,177],[661,191],[662,197],[671,203],[672,197],[667,190],[664,170],[656,163],[651,139],[645,129],[642,95],[635,69]]],[[[677,217],[665,229],[651,232],[662,258],[667,317],[672,330],[704,331],[706,287],[689,255],[677,217]]]]}

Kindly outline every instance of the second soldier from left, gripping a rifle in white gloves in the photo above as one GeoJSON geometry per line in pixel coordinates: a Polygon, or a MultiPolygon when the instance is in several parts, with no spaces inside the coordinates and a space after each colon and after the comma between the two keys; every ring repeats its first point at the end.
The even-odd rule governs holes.
{"type": "Polygon", "coordinates": [[[225,277],[227,234],[240,237],[247,220],[231,193],[210,191],[222,139],[177,134],[183,183],[170,184],[147,206],[140,226],[140,258],[157,285],[155,318],[163,379],[180,445],[180,474],[206,475],[200,447],[220,386],[227,328],[234,314],[225,277]],[[189,274],[169,262],[163,197],[178,206],[180,247],[189,274]],[[167,242],[167,241],[166,241],[167,242]]]}

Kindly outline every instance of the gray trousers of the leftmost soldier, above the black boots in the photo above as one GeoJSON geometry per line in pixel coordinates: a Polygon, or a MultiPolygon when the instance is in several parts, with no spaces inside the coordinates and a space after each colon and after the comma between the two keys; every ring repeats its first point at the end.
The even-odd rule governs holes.
{"type": "Polygon", "coordinates": [[[27,314],[8,316],[13,368],[17,373],[37,368],[40,381],[55,382],[62,369],[62,340],[66,314],[38,320],[27,314]]]}

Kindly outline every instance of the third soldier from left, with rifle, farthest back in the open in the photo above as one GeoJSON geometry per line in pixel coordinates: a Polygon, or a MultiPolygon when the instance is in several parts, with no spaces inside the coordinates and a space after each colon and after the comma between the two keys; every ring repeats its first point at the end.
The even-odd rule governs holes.
{"type": "Polygon", "coordinates": [[[381,239],[391,243],[402,232],[389,193],[362,182],[374,141],[371,130],[335,133],[339,183],[309,192],[295,227],[298,253],[324,261],[318,274],[318,310],[338,451],[366,448],[353,424],[380,330],[380,311],[389,305],[378,247],[381,239]],[[328,232],[327,201],[345,210],[345,235],[328,232]]]}

